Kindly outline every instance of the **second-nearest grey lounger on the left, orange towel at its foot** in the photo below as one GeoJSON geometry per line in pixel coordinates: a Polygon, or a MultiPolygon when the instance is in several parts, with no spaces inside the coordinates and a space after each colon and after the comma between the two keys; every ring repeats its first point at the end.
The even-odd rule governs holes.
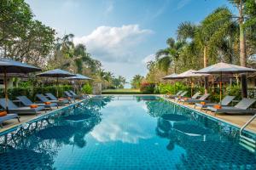
{"type": "MultiPolygon", "coordinates": [[[[44,106],[38,106],[37,108],[31,108],[31,107],[18,107],[17,105],[15,105],[11,100],[7,100],[8,102],[8,111],[9,113],[16,113],[18,115],[21,114],[26,114],[26,115],[31,115],[31,114],[38,114],[38,111],[42,111],[44,110],[44,106]]],[[[6,102],[5,99],[2,98],[0,99],[0,105],[3,107],[3,109],[6,110],[6,102]]]]}

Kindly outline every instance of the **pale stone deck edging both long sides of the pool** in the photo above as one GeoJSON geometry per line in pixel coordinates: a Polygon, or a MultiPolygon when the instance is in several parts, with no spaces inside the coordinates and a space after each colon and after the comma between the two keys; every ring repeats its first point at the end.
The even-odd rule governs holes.
{"type": "MultiPolygon", "coordinates": [[[[106,96],[106,95],[105,95],[106,96]]],[[[120,95],[119,95],[120,96],[120,95]]],[[[131,96],[131,95],[130,95],[131,96]]],[[[152,94],[151,94],[152,96],[152,94]]],[[[160,97],[163,97],[163,95],[157,95],[157,96],[160,96],[160,97]]],[[[166,99],[166,98],[165,98],[166,99]]],[[[176,101],[174,101],[174,99],[167,99],[173,103],[177,103],[176,101]]],[[[77,100],[76,103],[80,102],[79,100],[77,100]]],[[[177,103],[178,105],[183,105],[183,104],[180,104],[180,103],[177,103]]],[[[67,106],[67,105],[65,105],[67,106]]],[[[58,109],[61,109],[65,106],[59,106],[58,109]]],[[[194,108],[194,105],[189,105],[189,104],[185,104],[184,106],[186,107],[189,107],[191,109],[195,109],[197,111],[200,111],[199,108],[194,108]]],[[[56,111],[57,108],[55,107],[54,108],[54,111],[56,111]]],[[[20,116],[20,122],[17,121],[17,119],[12,119],[12,120],[9,120],[9,121],[5,121],[3,122],[3,128],[0,128],[0,133],[5,131],[5,130],[8,130],[12,127],[15,127],[15,126],[18,126],[24,122],[30,122],[32,121],[33,119],[36,119],[38,118],[38,116],[44,116],[45,114],[48,114],[49,111],[47,111],[47,113],[45,113],[45,111],[39,111],[38,112],[38,115],[24,115],[24,116],[20,116]]],[[[236,127],[241,127],[242,125],[244,125],[253,115],[227,115],[227,114],[218,114],[216,116],[214,116],[213,112],[211,111],[201,111],[201,113],[203,114],[206,114],[207,116],[212,116],[212,117],[215,117],[217,119],[220,119],[224,122],[228,122],[230,124],[233,124],[235,125],[236,127]]],[[[253,133],[256,133],[256,120],[254,120],[253,122],[251,122],[247,128],[247,130],[253,132],[253,133]]]]}

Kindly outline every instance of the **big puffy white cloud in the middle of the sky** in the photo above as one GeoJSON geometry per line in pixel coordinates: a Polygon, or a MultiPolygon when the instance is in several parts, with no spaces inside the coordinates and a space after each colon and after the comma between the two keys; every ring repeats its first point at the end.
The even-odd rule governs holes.
{"type": "Polygon", "coordinates": [[[137,46],[153,33],[138,25],[120,27],[99,26],[90,35],[75,37],[75,44],[83,43],[90,54],[106,62],[137,62],[137,46]]]}

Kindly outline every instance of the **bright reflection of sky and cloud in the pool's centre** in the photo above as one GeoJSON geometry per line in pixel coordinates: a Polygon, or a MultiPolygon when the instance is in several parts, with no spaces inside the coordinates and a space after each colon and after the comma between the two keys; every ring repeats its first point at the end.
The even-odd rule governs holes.
{"type": "Polygon", "coordinates": [[[91,132],[97,141],[137,144],[139,139],[149,139],[152,136],[146,126],[152,120],[145,119],[141,104],[138,107],[136,103],[134,105],[125,103],[127,104],[126,101],[111,103],[102,112],[103,121],[91,132]]]}

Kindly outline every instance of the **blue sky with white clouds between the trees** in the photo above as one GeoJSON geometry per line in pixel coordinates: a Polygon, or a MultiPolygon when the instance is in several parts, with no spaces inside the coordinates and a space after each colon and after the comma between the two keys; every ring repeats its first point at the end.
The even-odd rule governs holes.
{"type": "Polygon", "coordinates": [[[106,71],[127,81],[145,76],[147,62],[177,37],[183,21],[200,23],[227,0],[26,0],[36,20],[53,27],[59,37],[73,33],[106,71]]]}

